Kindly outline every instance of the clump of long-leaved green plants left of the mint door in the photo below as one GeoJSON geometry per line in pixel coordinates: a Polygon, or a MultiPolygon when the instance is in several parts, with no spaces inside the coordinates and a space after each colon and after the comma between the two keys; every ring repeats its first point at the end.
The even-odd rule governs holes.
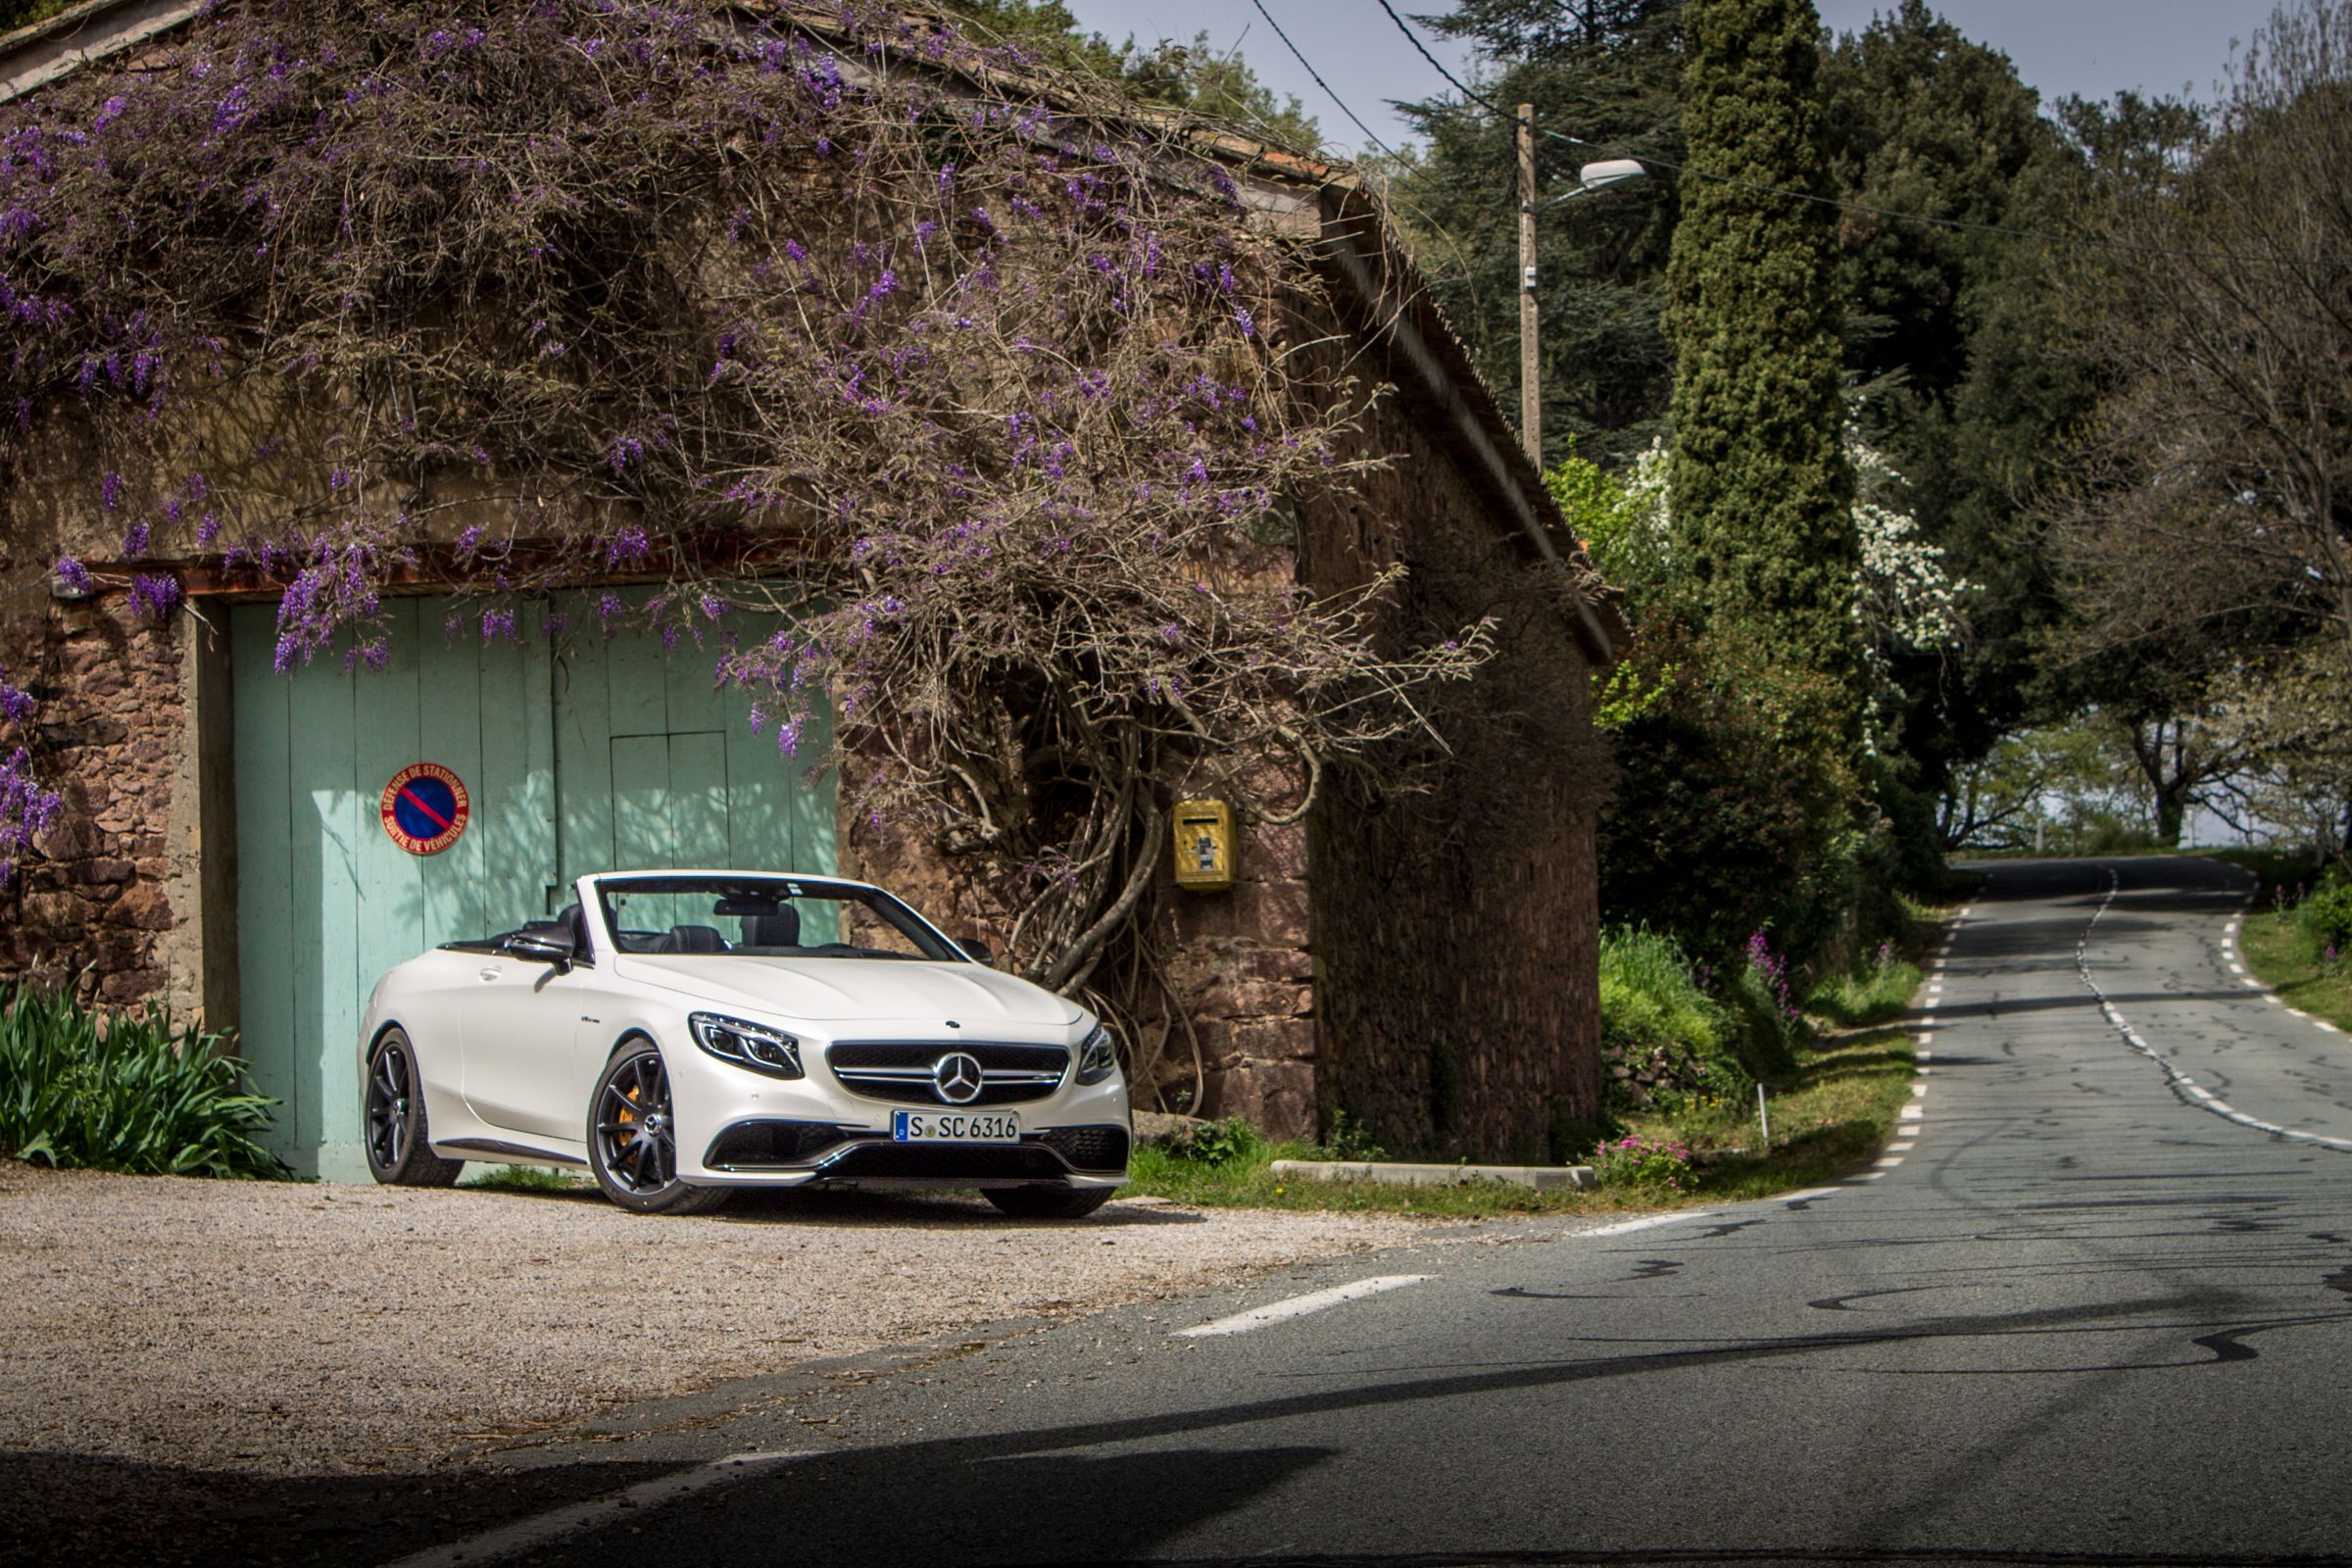
{"type": "Polygon", "coordinates": [[[101,1018],[16,985],[0,1004],[0,1152],[139,1175],[287,1175],[254,1140],[275,1100],[219,1046],[155,1004],[101,1018]]]}

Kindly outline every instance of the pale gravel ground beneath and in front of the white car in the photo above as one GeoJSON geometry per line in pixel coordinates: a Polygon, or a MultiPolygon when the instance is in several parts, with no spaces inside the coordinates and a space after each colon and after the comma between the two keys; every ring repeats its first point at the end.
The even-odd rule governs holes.
{"type": "Polygon", "coordinates": [[[1155,1201],[1033,1225],[797,1192],[699,1220],[588,1192],[412,1192],[0,1161],[0,1450],[421,1472],[616,1403],[1428,1239],[1155,1201]]]}

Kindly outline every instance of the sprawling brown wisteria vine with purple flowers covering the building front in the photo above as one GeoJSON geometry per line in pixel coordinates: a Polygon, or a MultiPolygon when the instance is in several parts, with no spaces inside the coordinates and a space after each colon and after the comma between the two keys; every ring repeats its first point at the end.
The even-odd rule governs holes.
{"type": "Polygon", "coordinates": [[[1303,242],[1105,94],[856,0],[223,2],[0,115],[0,463],[92,430],[108,548],[42,571],[275,585],[282,670],[381,663],[402,583],[485,639],[654,583],[546,621],[703,644],[1028,973],[1148,990],[1169,804],[1303,811],[1491,642],[1291,581],[1369,393],[1303,242]]]}

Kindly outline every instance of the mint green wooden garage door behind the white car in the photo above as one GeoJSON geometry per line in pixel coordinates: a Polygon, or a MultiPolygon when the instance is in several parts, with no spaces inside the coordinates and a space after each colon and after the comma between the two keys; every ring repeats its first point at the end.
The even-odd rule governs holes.
{"type": "Polygon", "coordinates": [[[830,783],[750,733],[708,649],[595,630],[550,644],[543,607],[515,642],[482,644],[447,637],[449,611],[393,599],[383,670],[294,675],[270,668],[273,609],[230,611],[240,1048],[282,1103],[270,1145],[301,1175],[367,1180],[358,1027],[393,964],[550,914],[590,870],[835,867],[830,783]],[[470,797],[437,856],[379,820],[412,762],[452,769],[470,797]]]}

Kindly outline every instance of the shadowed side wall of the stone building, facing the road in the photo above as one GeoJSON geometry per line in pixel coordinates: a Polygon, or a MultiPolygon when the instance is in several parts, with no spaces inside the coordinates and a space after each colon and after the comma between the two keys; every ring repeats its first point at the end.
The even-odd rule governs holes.
{"type": "Polygon", "coordinates": [[[1411,404],[1367,418],[1397,458],[1308,508],[1308,576],[1338,585],[1402,559],[1402,635],[1491,618],[1498,654],[1449,693],[1442,750],[1399,745],[1312,816],[1317,1110],[1392,1154],[1541,1161],[1599,1110],[1592,825],[1609,762],[1590,663],[1557,578],[1411,404]],[[1395,788],[1416,766],[1430,788],[1395,788]]]}

